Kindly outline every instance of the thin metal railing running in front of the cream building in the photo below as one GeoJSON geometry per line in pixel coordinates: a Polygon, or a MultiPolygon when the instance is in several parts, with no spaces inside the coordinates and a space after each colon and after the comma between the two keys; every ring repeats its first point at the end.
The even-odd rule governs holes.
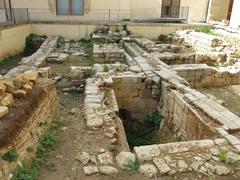
{"type": "Polygon", "coordinates": [[[188,19],[188,7],[162,7],[135,10],[84,10],[84,13],[70,14],[65,10],[13,8],[0,9],[0,24],[18,24],[27,22],[84,22],[84,21],[141,21],[151,19],[188,19]],[[64,12],[63,14],[59,12],[64,12]]]}

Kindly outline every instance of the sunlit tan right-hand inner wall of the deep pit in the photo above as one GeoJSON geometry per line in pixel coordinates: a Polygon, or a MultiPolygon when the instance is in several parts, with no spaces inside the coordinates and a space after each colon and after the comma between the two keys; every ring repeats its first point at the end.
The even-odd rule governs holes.
{"type": "MultiPolygon", "coordinates": [[[[192,108],[177,90],[170,90],[167,83],[162,83],[160,111],[166,119],[166,124],[173,128],[181,140],[199,140],[217,137],[206,120],[192,108]]],[[[210,119],[209,119],[210,120],[210,119]]]]}

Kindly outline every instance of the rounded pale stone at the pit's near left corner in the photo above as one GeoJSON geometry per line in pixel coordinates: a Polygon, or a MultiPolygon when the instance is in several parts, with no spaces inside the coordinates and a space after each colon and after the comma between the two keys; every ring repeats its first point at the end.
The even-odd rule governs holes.
{"type": "Polygon", "coordinates": [[[131,152],[120,152],[116,157],[117,164],[124,169],[129,162],[135,162],[136,156],[131,152]]]}

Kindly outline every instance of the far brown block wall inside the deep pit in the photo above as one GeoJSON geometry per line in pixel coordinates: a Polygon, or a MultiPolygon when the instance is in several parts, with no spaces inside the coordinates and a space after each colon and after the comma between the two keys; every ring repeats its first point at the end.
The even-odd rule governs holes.
{"type": "Polygon", "coordinates": [[[157,110],[158,101],[152,98],[151,89],[139,76],[114,76],[113,89],[118,108],[131,112],[133,119],[143,121],[150,112],[157,110]]]}

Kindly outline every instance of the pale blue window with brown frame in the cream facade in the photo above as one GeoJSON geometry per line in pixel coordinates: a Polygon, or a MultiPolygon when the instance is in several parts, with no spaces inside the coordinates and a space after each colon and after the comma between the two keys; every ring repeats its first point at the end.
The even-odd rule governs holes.
{"type": "Polygon", "coordinates": [[[84,0],[57,0],[58,15],[83,15],[84,0]]]}

